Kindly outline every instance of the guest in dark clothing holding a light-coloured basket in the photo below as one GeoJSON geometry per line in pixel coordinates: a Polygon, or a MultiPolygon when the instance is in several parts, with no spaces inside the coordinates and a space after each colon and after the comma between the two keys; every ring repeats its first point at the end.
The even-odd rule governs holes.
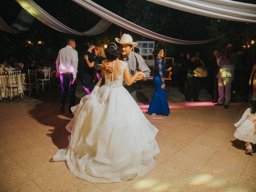
{"type": "Polygon", "coordinates": [[[200,92],[199,78],[202,77],[202,74],[196,71],[196,68],[198,66],[195,61],[196,61],[196,56],[190,56],[190,61],[186,63],[188,91],[185,95],[185,100],[191,101],[191,99],[193,98],[193,101],[198,102],[199,92],[200,92]]]}

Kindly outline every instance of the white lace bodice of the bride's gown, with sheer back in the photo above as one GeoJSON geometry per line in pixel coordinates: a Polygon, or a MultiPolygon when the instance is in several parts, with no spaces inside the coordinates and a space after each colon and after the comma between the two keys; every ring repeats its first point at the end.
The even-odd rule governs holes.
{"type": "MultiPolygon", "coordinates": [[[[122,62],[122,65],[120,66],[120,71],[115,71],[117,74],[117,78],[115,80],[113,80],[113,76],[114,76],[114,73],[112,73],[112,80],[109,79],[108,77],[108,72],[105,71],[105,84],[104,86],[109,86],[109,87],[120,87],[120,86],[123,86],[123,76],[124,76],[124,69],[126,68],[126,66],[128,65],[126,62],[124,61],[121,61],[122,62]],[[119,74],[119,75],[118,75],[119,74]],[[112,81],[112,83],[111,83],[112,81]]],[[[114,68],[114,64],[113,63],[113,68],[114,68]]]]}

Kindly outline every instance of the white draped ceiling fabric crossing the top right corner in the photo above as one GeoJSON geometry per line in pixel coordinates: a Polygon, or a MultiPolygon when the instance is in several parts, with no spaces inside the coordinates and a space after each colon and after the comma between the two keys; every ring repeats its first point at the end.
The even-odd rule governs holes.
{"type": "Polygon", "coordinates": [[[170,8],[232,21],[256,23],[256,4],[232,0],[147,0],[170,8]]]}

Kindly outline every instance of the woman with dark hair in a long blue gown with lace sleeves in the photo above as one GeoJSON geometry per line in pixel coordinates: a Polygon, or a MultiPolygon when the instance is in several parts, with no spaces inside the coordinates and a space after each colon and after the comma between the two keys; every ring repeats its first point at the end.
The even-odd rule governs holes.
{"type": "Polygon", "coordinates": [[[162,60],[164,57],[164,50],[162,48],[156,48],[153,52],[155,57],[155,71],[154,84],[155,92],[148,107],[148,114],[150,115],[166,115],[170,114],[169,105],[166,98],[164,71],[165,64],[162,60]]]}

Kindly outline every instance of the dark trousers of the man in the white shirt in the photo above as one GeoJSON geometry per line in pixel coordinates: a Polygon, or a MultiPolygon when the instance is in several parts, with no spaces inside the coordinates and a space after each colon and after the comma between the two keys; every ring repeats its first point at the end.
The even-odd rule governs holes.
{"type": "Polygon", "coordinates": [[[76,82],[72,84],[73,74],[60,74],[61,93],[60,104],[65,106],[66,97],[69,93],[69,108],[75,105],[76,101],[76,82]]]}

